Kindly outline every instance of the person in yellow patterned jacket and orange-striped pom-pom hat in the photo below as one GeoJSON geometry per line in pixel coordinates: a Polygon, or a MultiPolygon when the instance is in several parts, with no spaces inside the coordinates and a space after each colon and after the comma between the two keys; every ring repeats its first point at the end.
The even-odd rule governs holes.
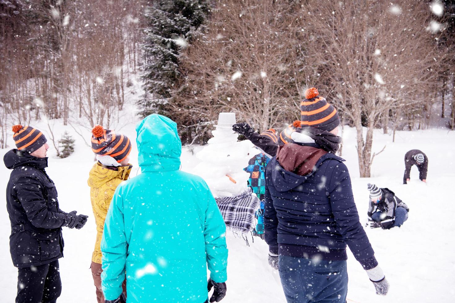
{"type": "MultiPolygon", "coordinates": [[[[90,170],[88,179],[91,206],[96,223],[96,243],[91,258],[91,273],[96,287],[96,299],[98,303],[104,303],[101,288],[101,238],[112,196],[117,186],[128,179],[131,172],[132,166],[128,164],[131,142],[123,134],[116,134],[110,129],[96,125],[92,129],[91,149],[97,159],[96,164],[90,170]]],[[[126,293],[126,280],[122,287],[126,293]]]]}

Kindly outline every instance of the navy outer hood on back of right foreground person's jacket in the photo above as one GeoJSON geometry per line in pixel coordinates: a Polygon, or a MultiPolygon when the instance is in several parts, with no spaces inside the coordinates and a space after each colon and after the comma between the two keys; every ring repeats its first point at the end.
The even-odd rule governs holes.
{"type": "Polygon", "coordinates": [[[274,157],[270,161],[269,165],[272,165],[272,180],[275,189],[280,192],[287,192],[291,189],[298,187],[299,185],[306,182],[313,174],[315,174],[318,170],[318,167],[327,159],[336,159],[339,161],[344,161],[344,159],[334,155],[334,154],[324,154],[321,158],[319,158],[316,165],[314,165],[313,171],[306,175],[298,175],[290,172],[279,164],[278,160],[274,157]]]}

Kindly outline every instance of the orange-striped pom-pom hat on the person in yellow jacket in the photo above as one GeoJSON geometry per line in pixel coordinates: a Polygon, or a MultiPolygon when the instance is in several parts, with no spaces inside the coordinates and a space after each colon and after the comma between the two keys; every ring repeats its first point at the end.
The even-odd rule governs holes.
{"type": "Polygon", "coordinates": [[[96,125],[91,130],[91,150],[95,154],[111,156],[118,163],[126,159],[131,152],[131,142],[123,134],[116,134],[113,130],[104,129],[96,125]]]}

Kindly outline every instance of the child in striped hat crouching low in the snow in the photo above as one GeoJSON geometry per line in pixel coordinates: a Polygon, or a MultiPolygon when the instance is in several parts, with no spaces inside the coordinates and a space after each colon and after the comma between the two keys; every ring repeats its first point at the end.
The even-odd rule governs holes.
{"type": "Polygon", "coordinates": [[[368,223],[370,228],[389,229],[400,227],[408,219],[409,208],[390,189],[380,189],[368,184],[370,202],[368,207],[368,223]]]}

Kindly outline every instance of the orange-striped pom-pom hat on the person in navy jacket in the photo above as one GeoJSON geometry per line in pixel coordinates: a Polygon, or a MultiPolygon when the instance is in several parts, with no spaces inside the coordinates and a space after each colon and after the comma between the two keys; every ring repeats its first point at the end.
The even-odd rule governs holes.
{"type": "Polygon", "coordinates": [[[331,131],[340,124],[337,110],[319,96],[318,89],[307,89],[305,98],[300,104],[302,126],[331,131]]]}

